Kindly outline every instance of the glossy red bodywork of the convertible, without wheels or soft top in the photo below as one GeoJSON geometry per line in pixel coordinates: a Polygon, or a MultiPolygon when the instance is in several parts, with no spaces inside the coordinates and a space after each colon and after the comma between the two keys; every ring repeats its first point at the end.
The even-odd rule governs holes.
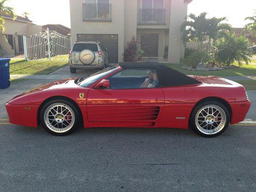
{"type": "MultiPolygon", "coordinates": [[[[121,67],[113,73],[122,70],[121,67]]],[[[75,78],[48,83],[14,97],[6,104],[13,124],[37,127],[40,106],[53,97],[74,101],[81,112],[84,127],[174,127],[187,129],[191,111],[205,98],[228,103],[231,124],[243,121],[250,108],[240,84],[218,77],[198,77],[203,83],[153,89],[93,89],[74,83],[75,78]],[[84,94],[80,98],[80,93],[84,94]]]]}

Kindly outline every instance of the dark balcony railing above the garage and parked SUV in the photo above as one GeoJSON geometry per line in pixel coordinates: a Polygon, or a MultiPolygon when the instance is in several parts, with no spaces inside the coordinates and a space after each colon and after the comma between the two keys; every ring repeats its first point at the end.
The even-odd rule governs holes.
{"type": "Polygon", "coordinates": [[[111,21],[111,4],[83,4],[83,20],[111,21]]]}

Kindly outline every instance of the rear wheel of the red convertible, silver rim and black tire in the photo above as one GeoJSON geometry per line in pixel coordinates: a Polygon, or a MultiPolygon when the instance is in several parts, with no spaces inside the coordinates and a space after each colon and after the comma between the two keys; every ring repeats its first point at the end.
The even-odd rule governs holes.
{"type": "Polygon", "coordinates": [[[192,129],[203,137],[215,137],[228,127],[230,114],[227,107],[218,101],[204,101],[198,104],[190,116],[192,129]]]}

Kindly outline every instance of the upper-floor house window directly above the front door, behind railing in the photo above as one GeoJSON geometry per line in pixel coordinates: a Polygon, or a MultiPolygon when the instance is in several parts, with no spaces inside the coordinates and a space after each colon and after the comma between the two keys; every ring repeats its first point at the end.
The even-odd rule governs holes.
{"type": "Polygon", "coordinates": [[[164,24],[163,0],[142,0],[140,24],[164,24]]]}

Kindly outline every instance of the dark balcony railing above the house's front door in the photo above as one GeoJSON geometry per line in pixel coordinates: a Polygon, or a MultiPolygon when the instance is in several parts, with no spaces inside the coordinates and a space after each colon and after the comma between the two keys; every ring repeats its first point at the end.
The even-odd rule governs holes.
{"type": "Polygon", "coordinates": [[[165,9],[140,9],[139,24],[165,24],[165,9]]]}

